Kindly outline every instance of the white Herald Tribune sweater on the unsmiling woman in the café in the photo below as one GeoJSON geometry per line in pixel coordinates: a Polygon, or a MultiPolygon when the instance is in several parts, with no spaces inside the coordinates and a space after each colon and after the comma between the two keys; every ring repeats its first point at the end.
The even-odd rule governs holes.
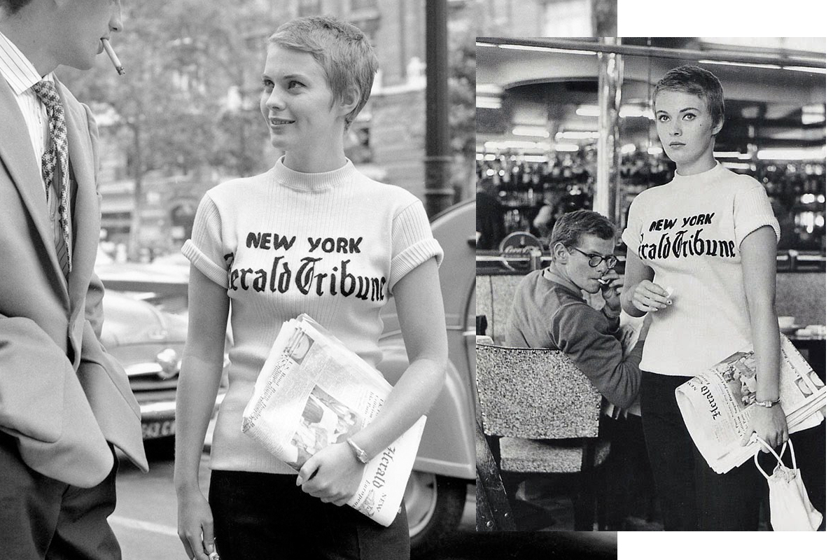
{"type": "Polygon", "coordinates": [[[673,304],[653,313],[640,369],[693,376],[752,342],[740,246],[763,226],[778,241],[764,186],[720,164],[633,199],[622,239],[673,289],[673,304]]]}

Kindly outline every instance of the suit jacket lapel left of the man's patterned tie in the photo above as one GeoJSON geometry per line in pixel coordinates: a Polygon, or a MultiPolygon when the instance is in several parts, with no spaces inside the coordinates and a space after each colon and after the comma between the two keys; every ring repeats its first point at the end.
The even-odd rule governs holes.
{"type": "MultiPolygon", "coordinates": [[[[61,274],[58,257],[55,255],[53,228],[46,207],[44,183],[38,162],[32,151],[32,141],[26,129],[24,116],[8,82],[0,79],[0,160],[8,170],[14,186],[18,187],[24,207],[35,224],[42,247],[36,247],[50,254],[53,268],[61,274]]],[[[33,242],[37,241],[33,239],[33,242]]]]}

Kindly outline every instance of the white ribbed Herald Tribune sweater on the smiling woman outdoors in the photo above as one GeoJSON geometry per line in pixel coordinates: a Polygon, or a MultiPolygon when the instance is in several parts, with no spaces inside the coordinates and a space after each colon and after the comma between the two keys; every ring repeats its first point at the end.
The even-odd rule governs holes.
{"type": "Polygon", "coordinates": [[[228,290],[230,385],[213,434],[211,468],[293,473],[241,431],[282,322],[307,313],[369,364],[381,359],[380,311],[418,264],[443,258],[423,204],[410,192],[338,170],[301,173],[281,160],[203,197],[181,249],[228,290]]]}

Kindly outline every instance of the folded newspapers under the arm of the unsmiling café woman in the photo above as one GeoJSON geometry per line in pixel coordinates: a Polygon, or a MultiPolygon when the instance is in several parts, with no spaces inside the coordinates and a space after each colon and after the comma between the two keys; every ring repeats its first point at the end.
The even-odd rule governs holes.
{"type": "MultiPolygon", "coordinates": [[[[826,386],[785,335],[781,337],[780,406],[788,432],[818,426],[825,420],[826,386]]],[[[755,358],[747,348],[676,389],[685,427],[718,474],[727,473],[752,458],[760,443],[741,440],[757,405],[755,358]]]]}

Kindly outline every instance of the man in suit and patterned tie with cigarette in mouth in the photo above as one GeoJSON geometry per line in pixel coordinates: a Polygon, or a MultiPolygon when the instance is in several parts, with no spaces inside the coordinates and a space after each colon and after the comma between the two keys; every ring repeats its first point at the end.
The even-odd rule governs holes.
{"type": "Polygon", "coordinates": [[[120,557],[139,406],[102,348],[97,128],[53,75],[92,67],[118,0],[0,0],[0,557],[120,557]]]}

